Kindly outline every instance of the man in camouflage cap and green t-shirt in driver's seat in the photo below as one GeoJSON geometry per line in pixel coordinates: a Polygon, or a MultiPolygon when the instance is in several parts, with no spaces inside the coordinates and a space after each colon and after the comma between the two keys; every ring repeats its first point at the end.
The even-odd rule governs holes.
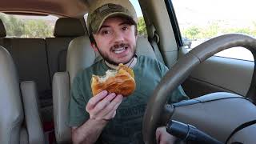
{"type": "MultiPolygon", "coordinates": [[[[142,119],[146,103],[167,68],[156,59],[137,56],[137,15],[128,0],[98,0],[90,5],[88,30],[91,45],[102,61],[78,73],[71,86],[70,126],[74,143],[143,143],[142,119]],[[136,90],[127,98],[106,90],[92,97],[92,74],[104,75],[119,63],[134,70],[136,90]]],[[[187,99],[181,86],[169,102],[187,99]]],[[[174,138],[161,127],[157,141],[174,138]]]]}

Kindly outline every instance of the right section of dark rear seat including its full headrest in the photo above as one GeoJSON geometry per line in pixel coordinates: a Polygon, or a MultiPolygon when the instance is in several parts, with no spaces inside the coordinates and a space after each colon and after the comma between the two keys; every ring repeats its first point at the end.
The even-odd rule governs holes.
{"type": "Polygon", "coordinates": [[[54,27],[54,37],[46,38],[50,79],[57,71],[66,71],[66,51],[70,41],[85,35],[82,23],[77,18],[59,18],[54,27]]]}

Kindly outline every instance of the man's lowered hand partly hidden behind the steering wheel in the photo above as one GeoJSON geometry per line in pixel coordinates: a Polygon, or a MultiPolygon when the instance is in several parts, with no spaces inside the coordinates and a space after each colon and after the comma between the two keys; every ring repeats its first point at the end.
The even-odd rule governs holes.
{"type": "Polygon", "coordinates": [[[158,144],[171,144],[175,142],[175,137],[167,133],[166,127],[158,127],[155,132],[155,137],[158,144]]]}

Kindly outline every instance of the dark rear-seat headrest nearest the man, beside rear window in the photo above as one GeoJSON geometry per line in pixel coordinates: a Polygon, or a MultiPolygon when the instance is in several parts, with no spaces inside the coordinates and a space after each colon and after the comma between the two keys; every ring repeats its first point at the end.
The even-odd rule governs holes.
{"type": "Polygon", "coordinates": [[[55,37],[78,37],[85,35],[82,23],[77,18],[58,18],[54,27],[55,37]]]}

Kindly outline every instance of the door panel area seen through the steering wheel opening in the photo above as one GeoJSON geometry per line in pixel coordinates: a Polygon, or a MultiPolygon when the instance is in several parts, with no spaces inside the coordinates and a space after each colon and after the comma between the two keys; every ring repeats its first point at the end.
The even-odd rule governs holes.
{"type": "Polygon", "coordinates": [[[213,56],[194,69],[182,84],[191,98],[217,91],[246,96],[254,62],[213,56]]]}

